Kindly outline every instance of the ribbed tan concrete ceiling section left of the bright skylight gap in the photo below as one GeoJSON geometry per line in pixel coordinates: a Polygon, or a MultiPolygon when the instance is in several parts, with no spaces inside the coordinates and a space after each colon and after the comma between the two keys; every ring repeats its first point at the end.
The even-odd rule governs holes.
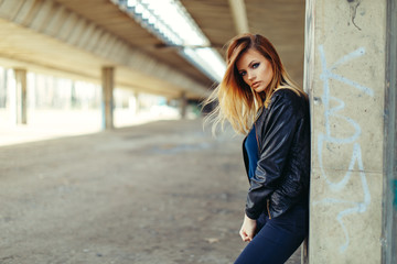
{"type": "Polygon", "coordinates": [[[129,69],[129,78],[122,75],[122,82],[131,84],[131,88],[146,87],[148,92],[158,89],[168,89],[170,94],[186,91],[196,98],[206,97],[208,92],[206,86],[178,68],[55,1],[0,0],[0,59],[92,78],[103,66],[116,66],[129,69]],[[60,19],[62,23],[56,23],[60,19]]]}

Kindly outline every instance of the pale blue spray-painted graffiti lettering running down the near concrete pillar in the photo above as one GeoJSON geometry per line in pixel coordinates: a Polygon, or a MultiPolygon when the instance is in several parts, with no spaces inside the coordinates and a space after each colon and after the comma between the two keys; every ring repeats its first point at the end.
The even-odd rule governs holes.
{"type": "MultiPolygon", "coordinates": [[[[322,64],[322,74],[321,79],[323,80],[323,95],[321,97],[321,101],[324,106],[324,118],[325,118],[325,133],[319,134],[318,136],[318,157],[319,157],[319,165],[321,170],[321,177],[325,180],[326,186],[330,188],[331,194],[335,194],[335,197],[328,197],[319,201],[314,201],[313,205],[319,204],[329,204],[329,205],[342,205],[343,209],[337,212],[336,221],[339,222],[341,229],[343,230],[345,240],[340,246],[340,252],[343,253],[346,251],[350,244],[350,233],[344,223],[344,218],[348,215],[353,213],[363,213],[366,211],[368,205],[371,204],[371,194],[368,184],[366,180],[363,158],[362,158],[362,150],[358,143],[358,138],[361,136],[362,130],[360,124],[345,116],[340,114],[339,112],[344,109],[345,102],[336,97],[331,96],[331,84],[330,80],[337,80],[345,85],[352,87],[352,89],[358,89],[360,91],[364,92],[365,95],[373,97],[374,91],[365,86],[362,86],[358,82],[355,82],[344,76],[337,75],[334,70],[346,64],[347,62],[361,57],[365,54],[365,50],[363,47],[348,53],[347,55],[341,57],[336,63],[331,66],[326,65],[324,47],[322,45],[319,46],[320,56],[321,56],[321,64],[322,64]],[[331,102],[335,103],[335,107],[330,107],[331,102]],[[332,125],[330,123],[330,118],[339,119],[341,121],[347,122],[353,128],[353,133],[345,135],[345,136],[336,136],[335,132],[332,132],[332,125]],[[335,145],[353,145],[353,151],[351,158],[348,161],[348,168],[345,175],[340,180],[333,180],[331,177],[325,173],[323,166],[323,146],[328,143],[333,143],[335,145]],[[356,169],[355,169],[356,167],[356,169]],[[362,200],[348,200],[348,199],[341,199],[341,195],[337,196],[337,193],[344,190],[346,185],[350,183],[352,173],[358,172],[360,173],[360,180],[361,180],[361,188],[363,190],[363,198],[362,200]]],[[[334,105],[333,105],[334,106],[334,105]]],[[[336,154],[337,155],[337,154],[336,154]]]]}

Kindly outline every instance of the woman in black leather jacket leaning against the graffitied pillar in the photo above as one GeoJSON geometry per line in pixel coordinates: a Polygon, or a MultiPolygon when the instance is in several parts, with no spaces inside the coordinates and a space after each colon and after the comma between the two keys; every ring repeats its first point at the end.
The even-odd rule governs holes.
{"type": "Polygon", "coordinates": [[[249,243],[235,263],[285,263],[308,234],[308,97],[266,37],[239,35],[226,56],[225,76],[206,102],[218,102],[208,116],[213,129],[227,120],[247,135],[243,153],[250,187],[239,234],[249,243]]]}

